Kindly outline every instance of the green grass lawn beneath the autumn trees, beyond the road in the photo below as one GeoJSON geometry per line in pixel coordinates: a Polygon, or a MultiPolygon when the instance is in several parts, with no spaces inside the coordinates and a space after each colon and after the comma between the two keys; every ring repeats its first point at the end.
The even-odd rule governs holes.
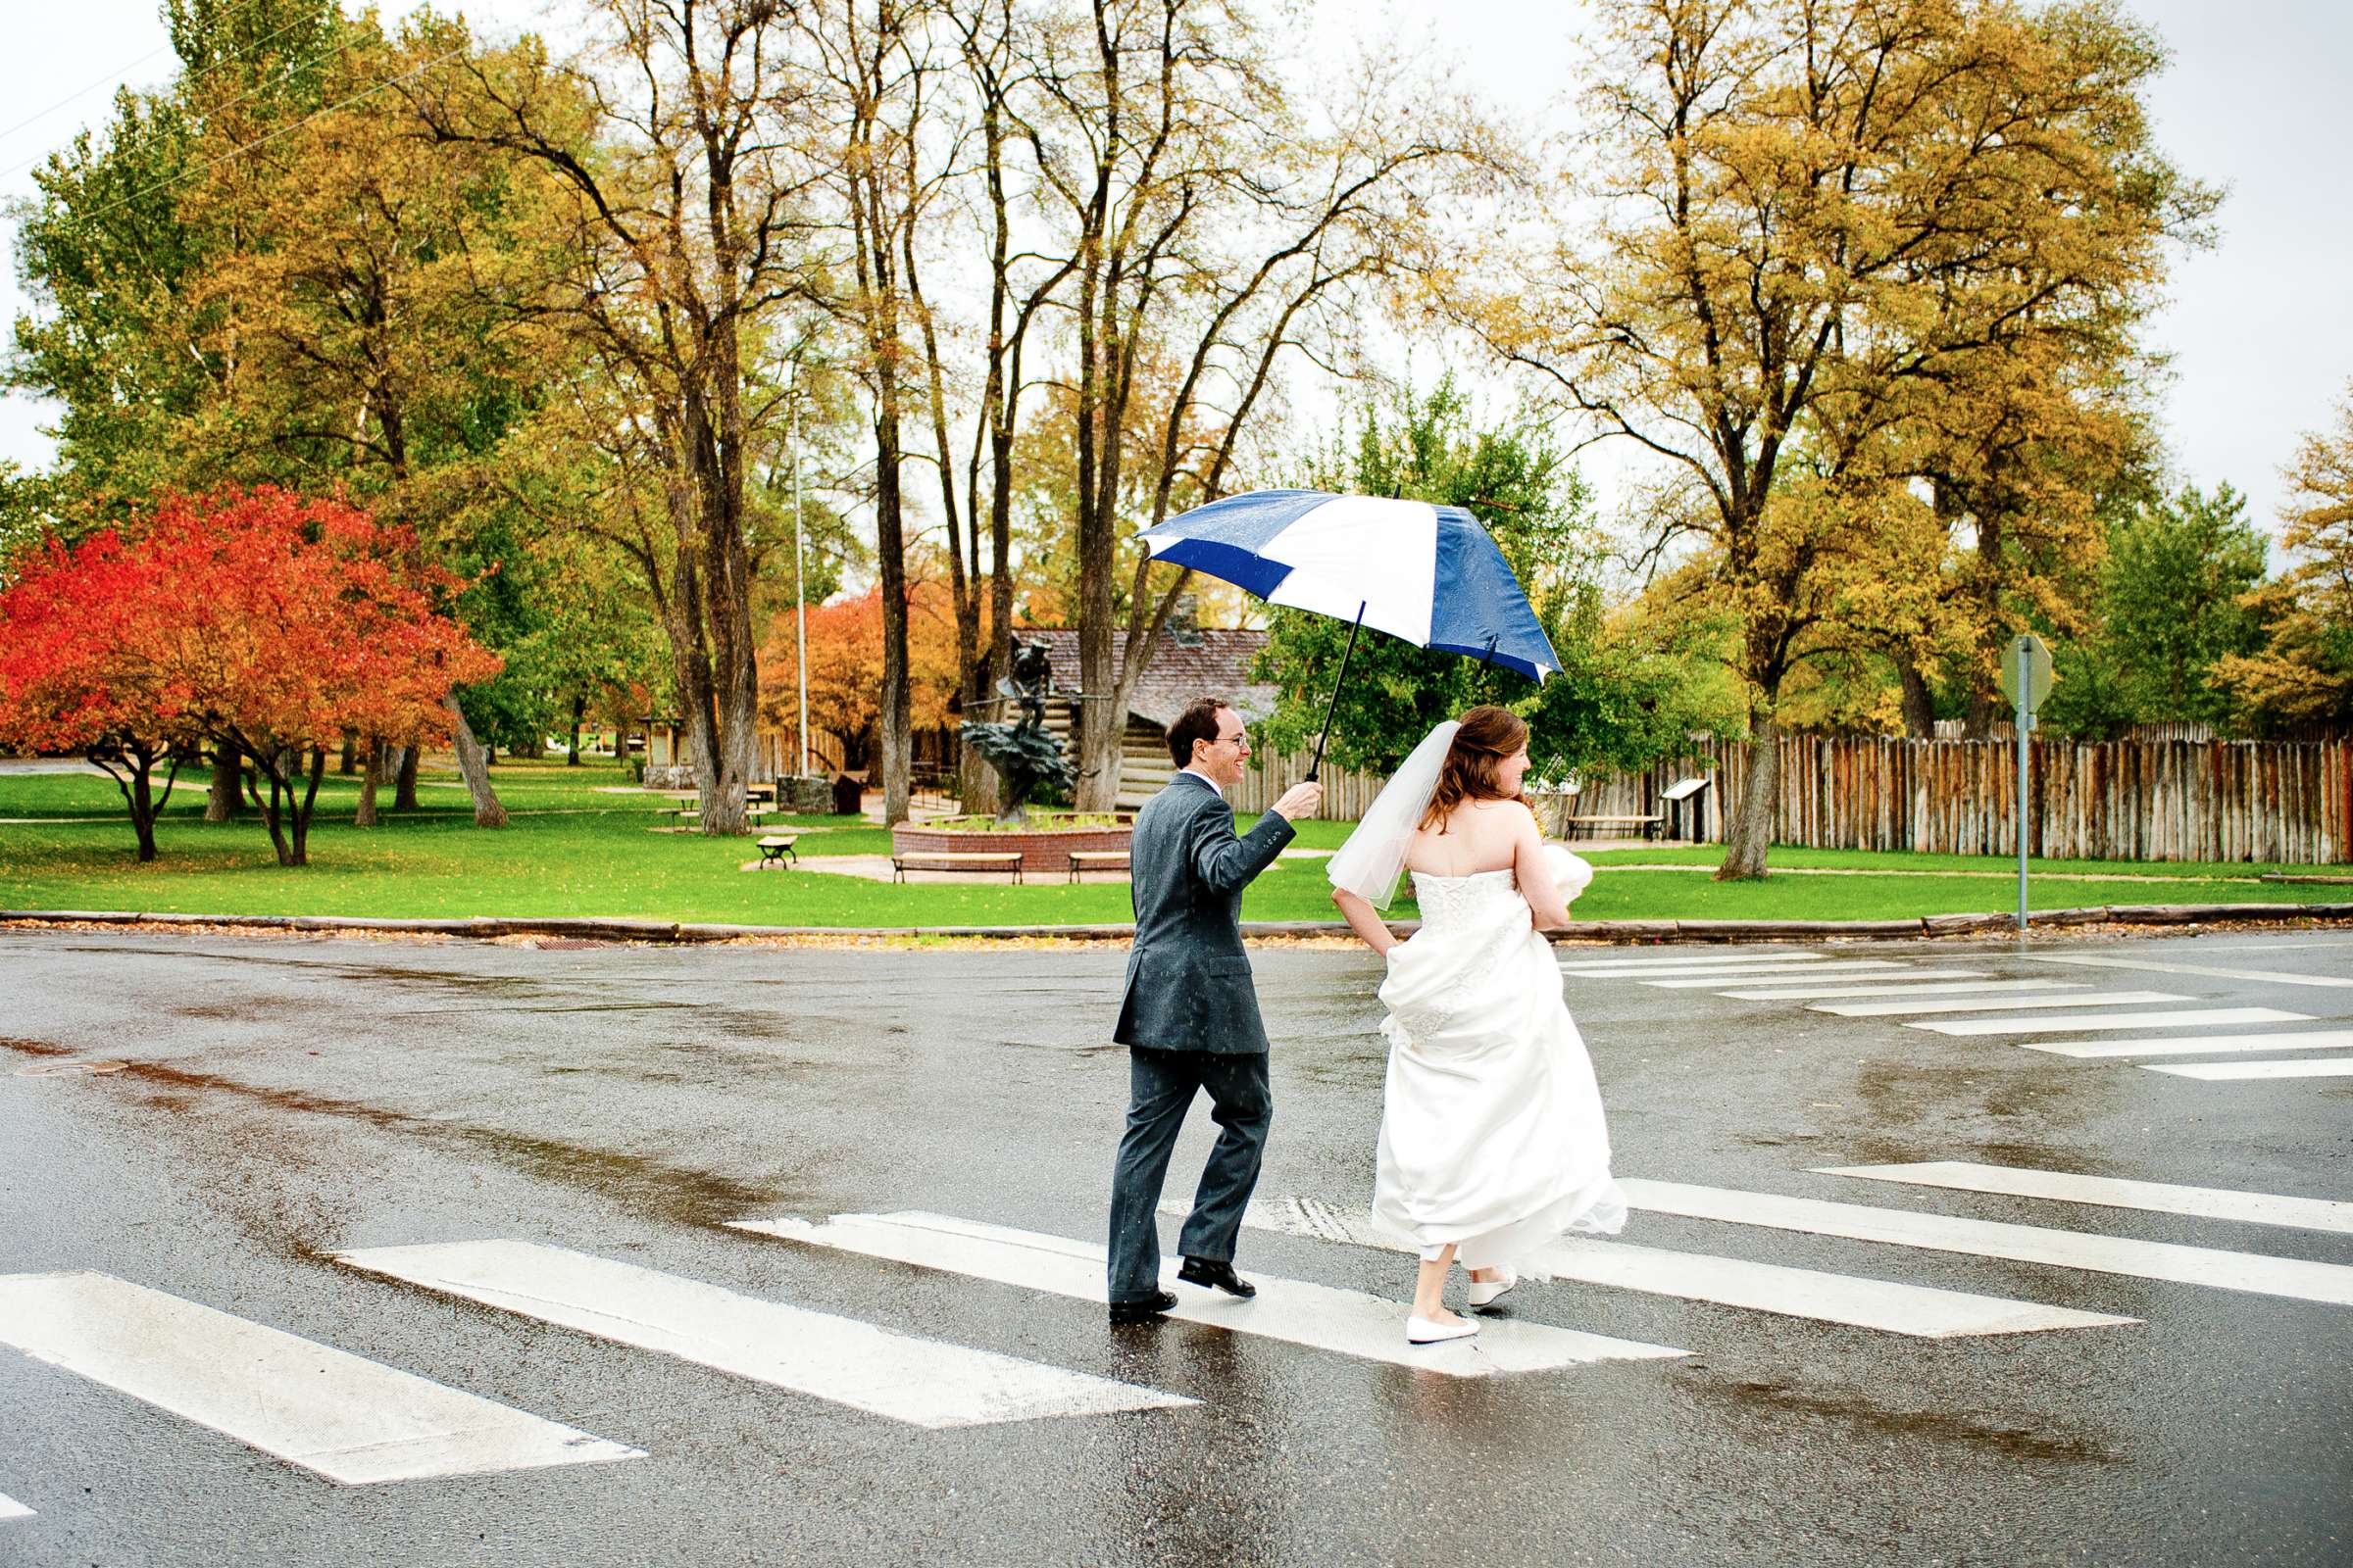
{"type": "MultiPolygon", "coordinates": [[[[311,865],[285,870],[256,816],[207,825],[205,776],[181,776],[158,825],[160,858],[132,860],[132,830],[115,788],[96,776],[0,776],[0,907],[148,910],[174,914],[598,914],[774,926],[1101,924],[1127,919],[1127,886],[1059,879],[1031,886],[889,886],[821,872],[744,872],[748,839],[656,832],[668,799],[614,795],[616,766],[501,762],[499,797],[513,823],[473,825],[454,776],[428,773],[419,811],[351,825],[358,785],[329,776],[311,827],[311,865]],[[42,820],[21,820],[42,818],[42,820]]],[[[379,806],[391,804],[381,790],[379,806]]],[[[772,818],[802,830],[802,856],[878,856],[889,835],[859,818],[772,818]]],[[[1348,823],[1306,823],[1301,846],[1337,849],[1348,823]]],[[[2012,886],[1986,877],[1871,872],[2007,872],[2002,856],[1875,856],[1781,849],[1786,870],[1845,877],[1774,877],[1718,884],[1692,870],[1609,870],[1612,863],[1713,865],[1720,849],[1593,853],[1602,870],[1577,903],[1579,919],[1901,919],[2012,907],[2012,886]]],[[[2035,870],[2118,875],[2134,882],[2038,882],[2035,907],[2101,903],[2341,903],[2353,889],[2261,884],[2264,865],[2052,860],[2035,870]]],[[[2311,870],[2311,867],[2304,867],[2311,870]]],[[[1282,860],[1252,884],[1247,919],[1332,919],[1320,860],[1282,860]]],[[[1393,914],[1409,914],[1402,903],[1393,914]]]]}

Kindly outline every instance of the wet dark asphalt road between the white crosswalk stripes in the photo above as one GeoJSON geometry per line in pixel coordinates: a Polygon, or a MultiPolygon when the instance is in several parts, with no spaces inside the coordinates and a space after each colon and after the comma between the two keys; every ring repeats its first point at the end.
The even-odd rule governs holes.
{"type": "MultiPolygon", "coordinates": [[[[2327,931],[2035,952],[2353,976],[2353,933],[2327,931]]],[[[2353,1018],[2346,987],[2054,976],[2005,943],[1842,957],[2353,1018]]],[[[1254,959],[1278,1103],[1259,1194],[1362,1206],[1379,969],[1254,959]]],[[[1520,1316],[1694,1354],[1452,1380],[1191,1324],[1111,1333],[1099,1305],[720,1229],[929,1208],[1096,1239],[1120,964],[0,936],[0,1274],[99,1269],[649,1455],[339,1488],[0,1349],[0,1493],[35,1509],[0,1521],[0,1563],[2353,1561],[2348,1307],[1635,1213],[1633,1244],[2144,1321],[1920,1340],[1548,1284],[1520,1316]],[[94,1060],[129,1067],[73,1070],[94,1060]],[[925,1432],[327,1258],[473,1237],[1202,1403],[925,1432]]],[[[1814,1173],[1965,1159],[2353,1199],[2353,1079],[2202,1084],[1624,980],[1569,1001],[1619,1175],[2353,1262],[2344,1234],[1814,1173]]],[[[1381,1295],[1412,1272],[1257,1232],[1242,1265],[1381,1295]]]]}

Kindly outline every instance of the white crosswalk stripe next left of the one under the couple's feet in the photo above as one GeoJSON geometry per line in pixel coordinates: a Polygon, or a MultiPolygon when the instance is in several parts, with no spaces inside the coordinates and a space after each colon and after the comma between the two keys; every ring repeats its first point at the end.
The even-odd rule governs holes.
{"type": "Polygon", "coordinates": [[[918,1427],[1195,1403],[536,1241],[379,1246],[336,1258],[369,1274],[918,1427]]]}

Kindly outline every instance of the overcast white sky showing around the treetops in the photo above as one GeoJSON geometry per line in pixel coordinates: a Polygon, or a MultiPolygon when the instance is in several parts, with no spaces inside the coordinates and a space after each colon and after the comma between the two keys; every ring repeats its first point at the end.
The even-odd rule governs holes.
{"type": "MultiPolygon", "coordinates": [[[[1527,125],[1551,118],[1569,78],[1565,0],[1292,0],[1311,54],[1365,28],[1428,35],[1454,54],[1464,87],[1527,125]]],[[[108,113],[118,82],[169,78],[158,0],[0,0],[0,200],[31,193],[31,165],[108,113]],[[89,92],[47,110],[66,94],[89,92]],[[19,125],[26,120],[26,125],[19,125]]],[[[2353,378],[2353,160],[2344,103],[2353,94],[2348,0],[2127,0],[2155,24],[2174,63],[2153,94],[2158,134],[2177,165],[2226,183],[2221,244],[2184,259],[2153,341],[2174,355],[2162,393],[2179,477],[2228,480],[2266,527],[2280,465],[2301,430],[2320,428],[2353,378]]],[[[388,14],[412,9],[384,0],[388,14]]],[[[567,0],[473,0],[485,33],[532,26],[562,49],[567,0]]],[[[0,315],[26,308],[7,226],[0,315]]],[[[0,400],[0,458],[49,461],[49,418],[26,397],[0,400]]],[[[1617,463],[1588,463],[1609,489],[1617,463]]]]}

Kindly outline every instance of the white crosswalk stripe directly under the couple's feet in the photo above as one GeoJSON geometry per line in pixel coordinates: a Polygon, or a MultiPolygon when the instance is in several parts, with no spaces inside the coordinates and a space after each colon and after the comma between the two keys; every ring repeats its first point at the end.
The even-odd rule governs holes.
{"type": "MultiPolygon", "coordinates": [[[[939,1213],[849,1213],[824,1222],[812,1220],[732,1220],[748,1229],[809,1246],[831,1246],[866,1258],[889,1258],[927,1269],[993,1279],[1024,1291],[1104,1300],[1104,1248],[1064,1237],[1045,1237],[1002,1225],[958,1220],[939,1213]]],[[[1176,1265],[1162,1269],[1162,1284],[1176,1279],[1176,1265]]],[[[1233,1333],[1308,1345],[1367,1361],[1417,1366],[1449,1378],[1487,1378],[1492,1373],[1527,1373],[1584,1361],[1649,1361],[1689,1352],[1635,1340],[1612,1340],[1574,1328],[1494,1321],[1478,1338],[1445,1345],[1405,1342],[1405,1305],[1337,1291],[1297,1279],[1252,1274],[1254,1300],[1181,1288],[1169,1314],[1188,1324],[1209,1324],[1233,1333]]]]}

